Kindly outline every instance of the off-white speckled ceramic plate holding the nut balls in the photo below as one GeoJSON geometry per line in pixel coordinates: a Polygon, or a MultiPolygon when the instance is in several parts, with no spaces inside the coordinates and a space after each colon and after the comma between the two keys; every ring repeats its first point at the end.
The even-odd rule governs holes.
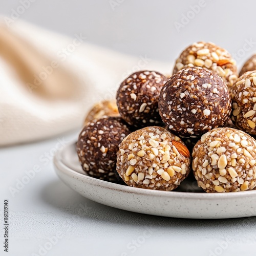
{"type": "Polygon", "coordinates": [[[82,196],[115,208],[156,216],[224,219],[256,216],[256,190],[237,193],[200,193],[191,180],[177,191],[134,188],[89,177],[78,162],[75,143],[54,158],[58,177],[82,196]]]}

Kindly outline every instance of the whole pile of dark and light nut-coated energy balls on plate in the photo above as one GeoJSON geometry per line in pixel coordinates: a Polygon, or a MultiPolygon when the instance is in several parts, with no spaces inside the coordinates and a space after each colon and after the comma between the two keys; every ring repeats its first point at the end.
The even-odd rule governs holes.
{"type": "Polygon", "coordinates": [[[255,126],[256,55],[238,77],[225,49],[200,41],[181,53],[172,77],[135,72],[116,100],[96,104],[77,153],[89,176],[133,187],[170,191],[191,169],[206,192],[252,190],[255,126]]]}

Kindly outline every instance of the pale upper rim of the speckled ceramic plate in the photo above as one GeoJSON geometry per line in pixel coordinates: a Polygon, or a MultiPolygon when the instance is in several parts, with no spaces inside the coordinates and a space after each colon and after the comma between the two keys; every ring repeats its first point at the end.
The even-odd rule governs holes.
{"type": "MultiPolygon", "coordinates": [[[[227,199],[236,199],[243,197],[256,197],[256,190],[247,190],[247,191],[238,191],[238,192],[229,192],[229,193],[195,193],[195,192],[182,192],[182,191],[164,191],[164,190],[153,190],[153,189],[145,189],[138,188],[132,186],[125,186],[117,183],[112,183],[100,179],[93,178],[88,175],[83,175],[78,173],[76,170],[70,168],[62,161],[62,153],[67,147],[71,147],[74,142],[67,144],[65,147],[59,150],[54,158],[53,164],[58,169],[59,172],[65,172],[67,175],[73,175],[76,178],[80,178],[86,182],[94,183],[97,186],[101,186],[108,189],[114,189],[122,192],[127,192],[129,194],[143,194],[144,196],[154,196],[154,197],[166,197],[169,199],[175,198],[184,198],[184,199],[198,199],[198,200],[211,200],[211,198],[219,199],[219,200],[227,200],[227,199]],[[172,195],[172,196],[171,196],[172,195]]],[[[56,169],[55,169],[56,172],[56,169]]],[[[57,173],[58,174],[58,173],[57,173]]],[[[59,175],[58,175],[59,176],[59,175]]],[[[59,177],[60,178],[60,177],[59,177]]],[[[61,179],[62,180],[62,179],[61,179]]]]}

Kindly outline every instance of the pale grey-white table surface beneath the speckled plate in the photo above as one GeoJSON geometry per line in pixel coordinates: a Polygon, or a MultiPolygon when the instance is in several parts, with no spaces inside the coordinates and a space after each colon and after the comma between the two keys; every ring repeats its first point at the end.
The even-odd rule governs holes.
{"type": "MultiPolygon", "coordinates": [[[[9,199],[9,253],[6,255],[255,255],[256,217],[187,220],[119,210],[83,198],[56,176],[52,161],[59,139],[78,132],[0,149],[1,226],[9,199]],[[9,188],[26,171],[41,171],[14,196],[9,188]],[[49,238],[59,235],[57,242],[49,238]],[[39,251],[40,246],[50,248],[39,251]]],[[[2,228],[1,228],[2,229],[2,228]]],[[[1,244],[3,231],[0,232],[1,244]]],[[[1,245],[0,255],[5,255],[1,245]],[[2,254],[3,252],[3,254],[2,254]]]]}

